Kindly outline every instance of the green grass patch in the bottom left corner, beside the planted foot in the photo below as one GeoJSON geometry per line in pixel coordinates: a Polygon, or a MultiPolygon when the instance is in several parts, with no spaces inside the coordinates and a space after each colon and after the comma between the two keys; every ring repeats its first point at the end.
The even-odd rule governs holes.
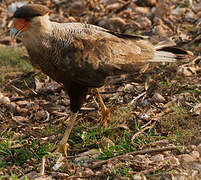
{"type": "MultiPolygon", "coordinates": [[[[1,131],[0,131],[1,133],[1,131]]],[[[5,132],[0,141],[0,179],[18,179],[24,176],[24,166],[32,166],[35,170],[44,155],[55,147],[55,143],[41,143],[39,138],[20,136],[14,138],[13,131],[5,132]],[[33,140],[32,140],[33,139],[33,140]]],[[[26,176],[24,179],[27,179],[26,176]]]]}

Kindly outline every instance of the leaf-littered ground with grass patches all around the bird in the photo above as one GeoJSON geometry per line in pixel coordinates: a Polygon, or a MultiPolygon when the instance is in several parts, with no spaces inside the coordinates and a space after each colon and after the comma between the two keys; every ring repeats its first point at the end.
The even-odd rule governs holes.
{"type": "Polygon", "coordinates": [[[0,0],[0,179],[201,179],[201,1],[26,2],[48,6],[53,21],[171,41],[193,56],[108,80],[101,95],[107,107],[118,107],[108,127],[90,93],[68,156],[51,154],[65,131],[69,98],[9,37],[13,10],[25,2],[0,0]]]}

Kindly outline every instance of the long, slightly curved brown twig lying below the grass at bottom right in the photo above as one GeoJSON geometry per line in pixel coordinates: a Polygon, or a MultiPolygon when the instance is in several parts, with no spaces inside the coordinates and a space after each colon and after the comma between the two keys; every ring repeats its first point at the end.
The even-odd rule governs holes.
{"type": "Polygon", "coordinates": [[[92,166],[90,166],[89,168],[91,169],[96,169],[96,168],[99,168],[100,166],[106,164],[107,162],[109,161],[114,161],[116,159],[122,159],[123,157],[125,156],[128,156],[128,155],[133,155],[133,156],[136,156],[138,154],[151,154],[151,153],[159,153],[159,152],[163,152],[163,151],[173,151],[173,150],[178,150],[177,149],[178,146],[169,146],[169,147],[163,147],[163,148],[152,148],[152,149],[147,149],[147,150],[140,150],[140,151],[134,151],[134,152],[130,152],[130,153],[126,153],[126,154],[123,154],[123,155],[119,155],[119,156],[115,156],[115,157],[112,157],[110,159],[107,159],[107,160],[103,160],[103,161],[99,161],[99,162],[95,162],[92,166]]]}

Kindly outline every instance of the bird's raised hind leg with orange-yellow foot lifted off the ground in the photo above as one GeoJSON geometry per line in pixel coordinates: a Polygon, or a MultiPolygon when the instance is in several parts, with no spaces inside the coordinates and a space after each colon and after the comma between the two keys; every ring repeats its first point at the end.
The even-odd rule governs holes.
{"type": "Polygon", "coordinates": [[[117,106],[112,106],[111,108],[107,108],[103,102],[103,99],[102,99],[100,93],[98,92],[98,89],[94,88],[93,91],[95,93],[96,99],[101,108],[102,120],[104,121],[104,126],[107,127],[108,121],[110,121],[111,112],[114,110],[117,110],[117,106]]]}

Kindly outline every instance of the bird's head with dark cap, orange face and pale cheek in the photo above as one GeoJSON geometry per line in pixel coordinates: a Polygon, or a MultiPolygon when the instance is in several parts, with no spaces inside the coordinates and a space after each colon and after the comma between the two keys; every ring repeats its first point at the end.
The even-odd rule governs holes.
{"type": "Polygon", "coordinates": [[[13,15],[14,20],[10,28],[10,36],[15,38],[27,32],[37,33],[49,22],[49,12],[46,6],[38,4],[29,4],[18,8],[13,15]]]}

